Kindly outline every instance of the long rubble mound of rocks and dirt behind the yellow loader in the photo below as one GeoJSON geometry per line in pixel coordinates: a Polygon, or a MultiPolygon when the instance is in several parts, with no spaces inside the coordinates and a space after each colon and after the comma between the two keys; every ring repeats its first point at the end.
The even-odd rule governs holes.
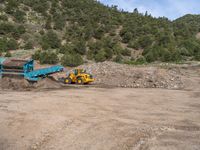
{"type": "Polygon", "coordinates": [[[183,83],[178,70],[158,67],[134,67],[114,62],[82,65],[96,78],[95,83],[129,88],[180,89],[183,83]]]}

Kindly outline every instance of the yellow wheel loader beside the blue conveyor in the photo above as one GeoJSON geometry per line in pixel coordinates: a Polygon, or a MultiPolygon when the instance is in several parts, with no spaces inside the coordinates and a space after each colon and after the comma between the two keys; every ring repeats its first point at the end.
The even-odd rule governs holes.
{"type": "Polygon", "coordinates": [[[94,82],[91,74],[87,73],[84,69],[74,69],[67,77],[61,79],[64,84],[89,84],[94,82]]]}

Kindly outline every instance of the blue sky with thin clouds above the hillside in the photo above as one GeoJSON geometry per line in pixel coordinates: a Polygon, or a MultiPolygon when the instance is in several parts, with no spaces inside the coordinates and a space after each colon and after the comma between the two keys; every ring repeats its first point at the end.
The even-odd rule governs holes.
{"type": "Polygon", "coordinates": [[[132,12],[148,11],[152,16],[165,16],[171,20],[185,14],[200,14],[200,0],[99,0],[105,5],[117,5],[119,9],[132,12]]]}

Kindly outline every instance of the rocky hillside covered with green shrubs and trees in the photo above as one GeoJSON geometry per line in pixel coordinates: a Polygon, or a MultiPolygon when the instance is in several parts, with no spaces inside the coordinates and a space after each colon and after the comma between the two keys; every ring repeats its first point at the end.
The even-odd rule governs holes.
{"type": "Polygon", "coordinates": [[[40,49],[34,59],[67,66],[200,60],[199,19],[186,15],[172,22],[95,0],[2,0],[0,52],[40,49]]]}

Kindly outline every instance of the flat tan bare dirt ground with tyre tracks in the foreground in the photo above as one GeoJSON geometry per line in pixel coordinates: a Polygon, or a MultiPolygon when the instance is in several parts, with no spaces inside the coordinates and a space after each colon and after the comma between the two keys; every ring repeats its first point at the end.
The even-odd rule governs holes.
{"type": "Polygon", "coordinates": [[[0,150],[199,150],[199,68],[180,74],[181,90],[0,90],[0,150]]]}

